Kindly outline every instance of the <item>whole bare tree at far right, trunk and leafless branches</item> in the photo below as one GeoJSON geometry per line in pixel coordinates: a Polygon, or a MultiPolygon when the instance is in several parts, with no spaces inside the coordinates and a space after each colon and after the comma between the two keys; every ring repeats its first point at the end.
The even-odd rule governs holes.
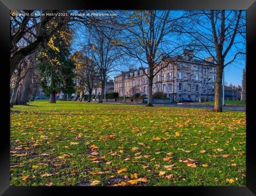
{"type": "Polygon", "coordinates": [[[215,112],[222,112],[223,69],[245,56],[245,11],[189,11],[183,31],[192,37],[198,58],[209,54],[216,65],[215,112]],[[227,61],[227,62],[226,62],[227,61]]]}

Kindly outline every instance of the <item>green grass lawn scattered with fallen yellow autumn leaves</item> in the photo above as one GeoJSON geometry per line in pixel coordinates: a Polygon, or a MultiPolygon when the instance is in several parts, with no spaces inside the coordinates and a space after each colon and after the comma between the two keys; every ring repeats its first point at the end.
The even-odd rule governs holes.
{"type": "Polygon", "coordinates": [[[245,112],[29,104],[10,114],[11,185],[246,185],[245,112]]]}

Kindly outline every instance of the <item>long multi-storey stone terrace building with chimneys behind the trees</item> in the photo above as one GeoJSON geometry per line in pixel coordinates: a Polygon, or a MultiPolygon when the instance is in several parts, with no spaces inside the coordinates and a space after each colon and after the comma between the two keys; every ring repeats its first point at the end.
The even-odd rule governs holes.
{"type": "MultiPolygon", "coordinates": [[[[212,58],[204,60],[194,59],[193,51],[184,50],[183,56],[176,56],[175,61],[158,65],[154,69],[156,76],[153,80],[153,93],[163,91],[166,97],[172,102],[177,102],[180,98],[191,98],[198,102],[214,100],[215,92],[215,65],[212,58]]],[[[148,68],[144,68],[148,73],[148,68]]],[[[141,95],[148,94],[148,78],[143,72],[143,68],[130,69],[115,76],[114,91],[119,96],[132,96],[134,93],[141,95]]]]}

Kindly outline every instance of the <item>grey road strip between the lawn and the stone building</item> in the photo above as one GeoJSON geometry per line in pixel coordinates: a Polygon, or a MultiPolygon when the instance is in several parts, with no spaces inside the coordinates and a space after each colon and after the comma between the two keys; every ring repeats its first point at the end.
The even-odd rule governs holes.
{"type": "MultiPolygon", "coordinates": [[[[93,101],[95,102],[95,101],[93,101]]],[[[120,102],[106,102],[106,103],[115,103],[115,104],[127,104],[127,105],[147,105],[146,103],[120,103],[120,102]]],[[[161,107],[185,107],[185,108],[196,108],[196,109],[213,109],[213,105],[182,105],[182,104],[177,104],[177,103],[154,103],[154,106],[161,106],[161,107]]],[[[223,110],[226,111],[246,111],[246,105],[244,107],[242,106],[224,106],[222,108],[223,110]]]]}

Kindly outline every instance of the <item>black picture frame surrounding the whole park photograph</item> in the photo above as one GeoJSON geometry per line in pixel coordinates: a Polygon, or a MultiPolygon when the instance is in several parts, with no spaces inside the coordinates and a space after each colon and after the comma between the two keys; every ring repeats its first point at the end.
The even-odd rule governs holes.
{"type": "Polygon", "coordinates": [[[0,0],[0,49],[1,49],[1,86],[2,89],[2,124],[0,140],[0,194],[2,195],[71,195],[76,191],[89,194],[98,190],[112,194],[124,194],[128,192],[147,189],[150,193],[176,194],[187,192],[189,195],[256,195],[256,153],[255,138],[253,137],[253,107],[251,87],[253,82],[253,67],[255,66],[254,48],[256,45],[256,2],[255,0],[130,0],[121,4],[115,1],[88,1],[88,0],[0,0]],[[247,144],[246,144],[246,186],[242,187],[11,187],[9,185],[9,10],[10,9],[243,9],[247,10],[247,144]],[[6,91],[6,92],[5,92],[6,91]],[[249,95],[248,95],[249,93],[249,95]],[[250,95],[251,94],[251,95],[250,95]],[[250,101],[251,100],[251,101],[250,101]],[[252,113],[252,115],[250,115],[252,113]],[[125,190],[124,190],[125,189],[125,190]],[[117,192],[118,191],[118,192],[117,192]]]}

